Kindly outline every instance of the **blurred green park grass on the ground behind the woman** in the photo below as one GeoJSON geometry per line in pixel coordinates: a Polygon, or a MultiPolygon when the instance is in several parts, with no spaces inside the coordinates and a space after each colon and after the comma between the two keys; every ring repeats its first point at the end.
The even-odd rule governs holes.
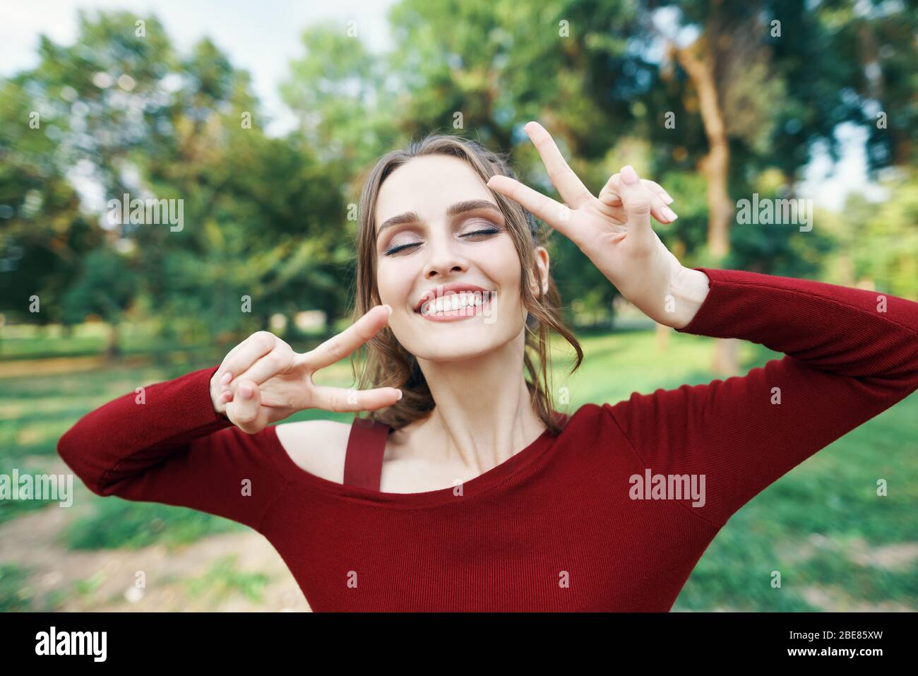
{"type": "MultiPolygon", "coordinates": [[[[564,342],[554,341],[553,393],[555,399],[569,399],[564,407],[568,412],[587,402],[626,399],[634,391],[711,380],[713,342],[707,338],[672,332],[665,353],[657,351],[654,333],[647,331],[585,334],[580,340],[586,356],[573,377],[566,376],[572,353],[564,342]]],[[[740,354],[744,371],[779,356],[755,344],[741,344],[740,354]]],[[[117,362],[101,370],[0,378],[0,471],[40,468],[42,457],[56,456],[58,438],[80,415],[138,385],[214,366],[221,356],[182,354],[147,366],[117,362]]],[[[349,362],[325,369],[319,381],[352,385],[349,362]]],[[[351,414],[300,411],[291,420],[313,418],[347,421],[351,414]]],[[[866,567],[843,551],[857,539],[870,547],[918,542],[916,420],[918,393],[846,434],[756,496],[711,543],[674,610],[818,610],[806,601],[808,587],[844,594],[859,603],[918,607],[914,561],[904,569],[866,567]],[[888,481],[889,495],[877,496],[877,479],[888,481]],[[813,546],[813,535],[822,535],[836,546],[813,546]],[[803,551],[810,551],[810,556],[789,556],[803,551]],[[771,586],[775,570],[781,575],[777,589],[771,586]]],[[[91,509],[64,534],[73,548],[181,544],[244,528],[184,508],[99,498],[78,480],[74,490],[74,501],[89,502],[91,509]]],[[[33,509],[42,507],[39,503],[0,505],[4,511],[0,523],[33,509]]],[[[28,605],[28,598],[17,596],[22,575],[16,569],[0,574],[0,609],[4,604],[28,605]]],[[[252,590],[261,584],[245,578],[229,580],[226,586],[241,586],[249,594],[257,593],[252,590]]]]}

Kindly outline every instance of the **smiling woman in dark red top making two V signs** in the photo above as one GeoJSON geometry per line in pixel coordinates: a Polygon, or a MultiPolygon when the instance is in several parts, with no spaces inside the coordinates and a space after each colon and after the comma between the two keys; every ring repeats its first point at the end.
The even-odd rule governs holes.
{"type": "Polygon", "coordinates": [[[252,526],[315,611],[669,610],[733,513],[918,388],[918,303],[686,268],[651,227],[675,218],[660,186],[626,166],[594,197],[526,130],[565,205],[461,138],[387,154],[361,198],[350,328],[305,354],[254,333],[87,414],[63,459],[99,495],[252,526]],[[554,411],[547,331],[582,353],[531,214],[655,321],[786,355],[554,411]],[[371,388],[314,383],[364,344],[371,388]],[[372,412],[270,424],[309,408],[372,412]]]}

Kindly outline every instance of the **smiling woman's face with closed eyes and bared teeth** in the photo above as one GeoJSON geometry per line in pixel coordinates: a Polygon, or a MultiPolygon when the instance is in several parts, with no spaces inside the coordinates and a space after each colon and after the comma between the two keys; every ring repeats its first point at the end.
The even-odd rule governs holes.
{"type": "MultiPolygon", "coordinates": [[[[409,353],[465,359],[521,335],[520,257],[496,199],[471,166],[448,155],[401,165],[380,188],[375,222],[379,297],[391,306],[388,325],[409,353]]],[[[535,253],[547,279],[548,253],[541,246],[535,253]]],[[[530,283],[537,294],[532,275],[530,283]]]]}

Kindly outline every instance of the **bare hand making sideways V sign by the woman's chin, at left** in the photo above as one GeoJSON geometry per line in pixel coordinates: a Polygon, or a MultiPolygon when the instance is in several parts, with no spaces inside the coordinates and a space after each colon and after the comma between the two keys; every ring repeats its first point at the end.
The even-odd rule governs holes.
{"type": "Polygon", "coordinates": [[[400,389],[330,388],[312,381],[319,368],[335,364],[369,341],[391,312],[387,305],[377,305],[305,354],[294,352],[274,333],[252,333],[229,351],[210,378],[214,411],[243,432],[255,434],[304,409],[373,411],[391,406],[401,399],[400,389]]]}

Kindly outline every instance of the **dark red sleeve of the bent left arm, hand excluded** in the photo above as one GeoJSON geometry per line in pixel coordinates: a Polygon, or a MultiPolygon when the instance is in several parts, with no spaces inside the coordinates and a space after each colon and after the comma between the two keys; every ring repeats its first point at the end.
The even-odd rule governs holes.
{"type": "Polygon", "coordinates": [[[258,530],[286,481],[265,433],[245,434],[214,411],[216,370],[151,385],[144,403],[134,392],[109,401],[61,437],[59,455],[96,495],[190,507],[258,530]]]}

